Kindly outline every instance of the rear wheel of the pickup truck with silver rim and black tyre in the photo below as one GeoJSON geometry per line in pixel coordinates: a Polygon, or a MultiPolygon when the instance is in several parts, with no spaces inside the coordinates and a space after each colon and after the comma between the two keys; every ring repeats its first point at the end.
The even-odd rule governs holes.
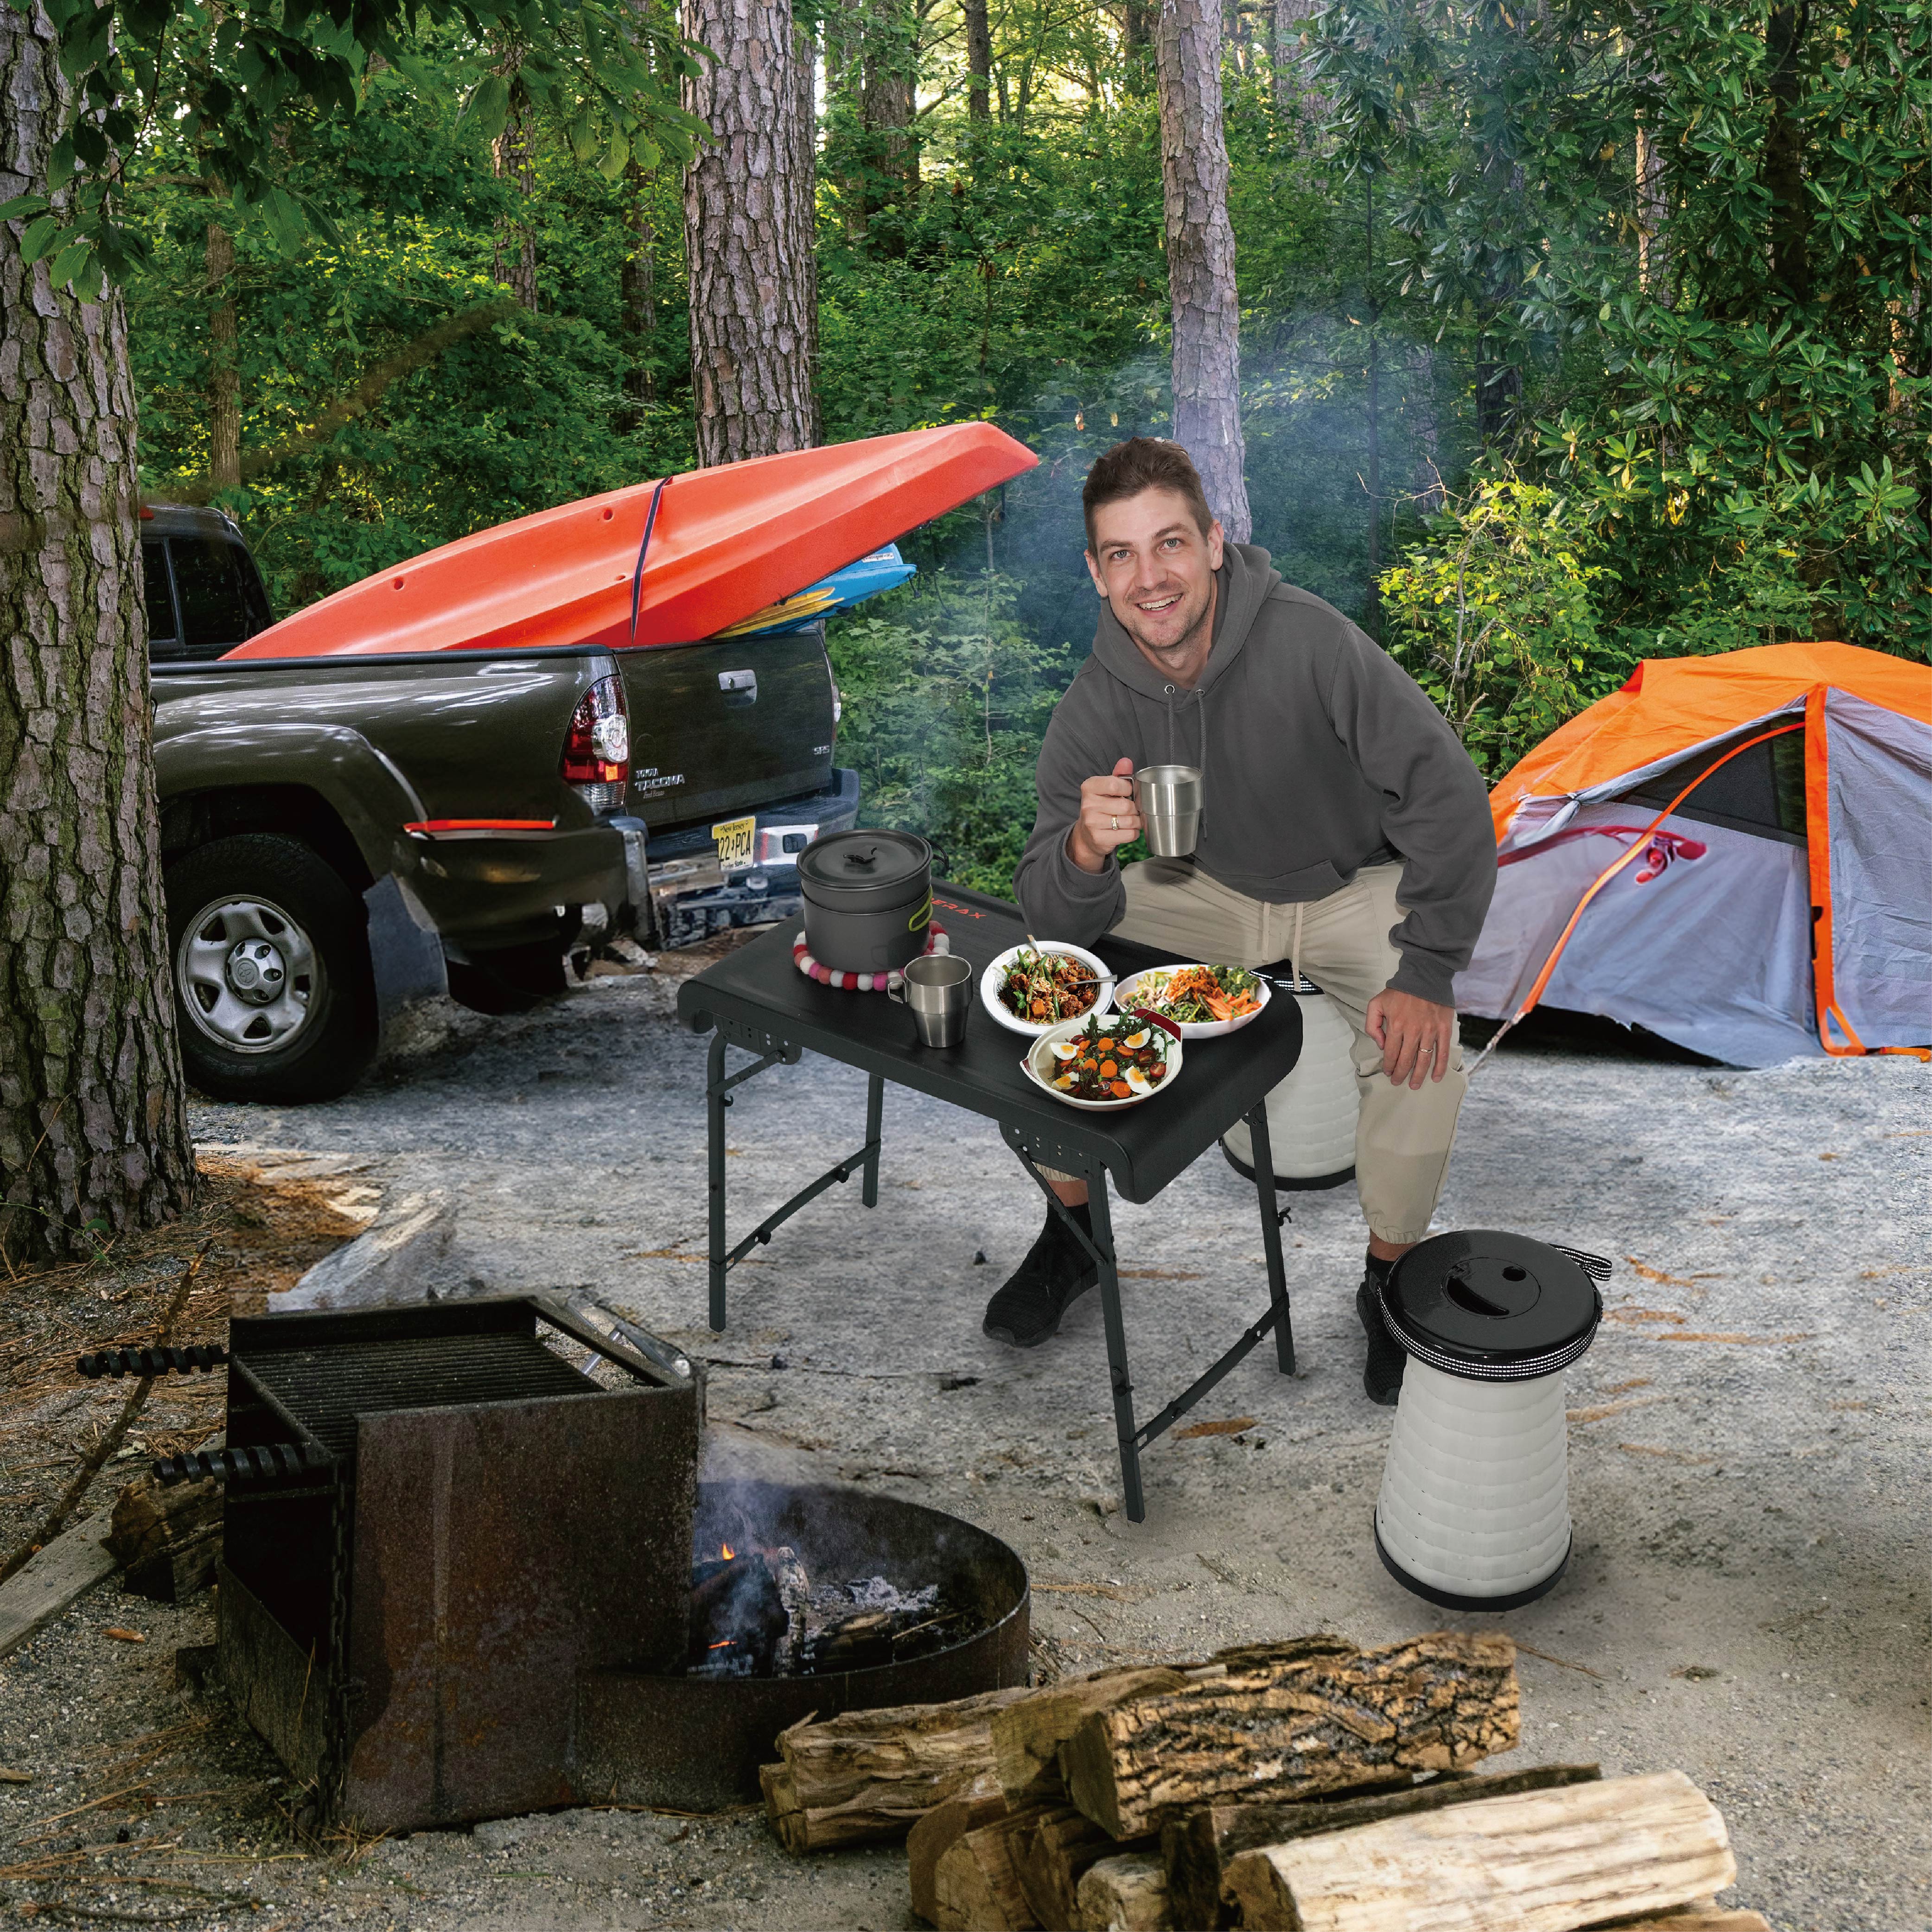
{"type": "Polygon", "coordinates": [[[334,1099],[377,1049],[361,900],[296,838],[218,838],[168,867],[187,1078],[214,1099],[334,1099]]]}

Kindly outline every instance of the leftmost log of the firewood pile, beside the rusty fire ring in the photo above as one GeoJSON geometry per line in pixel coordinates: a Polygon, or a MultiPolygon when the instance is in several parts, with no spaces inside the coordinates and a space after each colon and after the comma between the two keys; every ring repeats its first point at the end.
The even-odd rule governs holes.
{"type": "Polygon", "coordinates": [[[792,1853],[904,1837],[941,1799],[993,1770],[991,1716],[1026,1694],[987,1690],[794,1723],[779,1733],[782,1762],[757,1774],[771,1830],[792,1853]]]}

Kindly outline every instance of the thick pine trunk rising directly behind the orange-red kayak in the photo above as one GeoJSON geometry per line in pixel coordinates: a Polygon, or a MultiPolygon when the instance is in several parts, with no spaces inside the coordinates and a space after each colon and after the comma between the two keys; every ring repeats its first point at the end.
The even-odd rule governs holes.
{"type": "Polygon", "coordinates": [[[684,93],[711,128],[684,172],[697,460],[810,448],[817,303],[790,0],[684,0],[684,31],[717,54],[684,93]]]}

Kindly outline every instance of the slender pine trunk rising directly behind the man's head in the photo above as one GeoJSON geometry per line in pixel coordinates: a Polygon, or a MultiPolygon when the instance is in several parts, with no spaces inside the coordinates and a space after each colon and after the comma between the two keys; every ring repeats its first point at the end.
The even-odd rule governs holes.
{"type": "Polygon", "coordinates": [[[1227,218],[1221,10],[1161,0],[1161,187],[1175,323],[1175,440],[1194,458],[1208,506],[1236,543],[1254,533],[1240,435],[1240,296],[1227,218]]]}

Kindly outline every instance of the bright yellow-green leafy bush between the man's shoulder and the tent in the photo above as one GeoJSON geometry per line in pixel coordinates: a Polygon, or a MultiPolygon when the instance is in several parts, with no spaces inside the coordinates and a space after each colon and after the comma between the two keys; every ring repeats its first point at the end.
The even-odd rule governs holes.
{"type": "Polygon", "coordinates": [[[1565,719],[1617,688],[1590,529],[1573,498],[1484,481],[1381,578],[1385,641],[1493,784],[1565,719]]]}

